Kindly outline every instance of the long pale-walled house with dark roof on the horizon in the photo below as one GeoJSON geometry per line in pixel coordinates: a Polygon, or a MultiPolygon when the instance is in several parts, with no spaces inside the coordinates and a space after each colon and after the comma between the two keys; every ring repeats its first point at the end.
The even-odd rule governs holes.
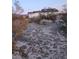
{"type": "Polygon", "coordinates": [[[49,9],[42,9],[41,11],[34,11],[34,12],[28,12],[29,18],[37,17],[40,14],[41,15],[48,15],[48,14],[54,14],[57,13],[58,10],[55,8],[49,8],[49,9]]]}

